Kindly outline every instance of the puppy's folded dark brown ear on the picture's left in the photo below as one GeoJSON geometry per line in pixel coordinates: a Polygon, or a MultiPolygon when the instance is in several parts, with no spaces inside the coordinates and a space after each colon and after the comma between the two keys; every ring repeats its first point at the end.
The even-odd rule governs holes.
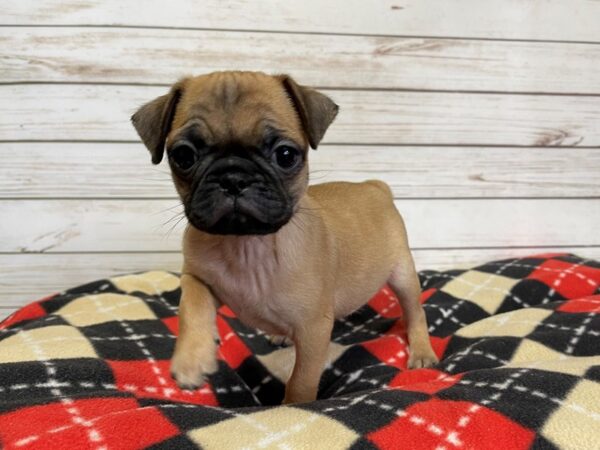
{"type": "Polygon", "coordinates": [[[165,141],[171,130],[177,103],[183,92],[185,80],[173,85],[168,94],[146,103],[131,116],[135,130],[152,155],[152,163],[158,164],[165,151],[165,141]]]}

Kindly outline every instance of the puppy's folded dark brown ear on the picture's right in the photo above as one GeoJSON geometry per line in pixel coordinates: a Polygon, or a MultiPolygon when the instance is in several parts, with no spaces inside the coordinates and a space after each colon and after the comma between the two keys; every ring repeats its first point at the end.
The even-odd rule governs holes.
{"type": "Polygon", "coordinates": [[[280,79],[300,116],[308,143],[316,149],[335,119],[339,106],[325,94],[299,85],[289,75],[281,75],[280,79]]]}

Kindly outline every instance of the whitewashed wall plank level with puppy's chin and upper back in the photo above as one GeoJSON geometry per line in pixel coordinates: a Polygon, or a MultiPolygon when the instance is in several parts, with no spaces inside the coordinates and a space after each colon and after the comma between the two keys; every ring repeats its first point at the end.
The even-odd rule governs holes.
{"type": "MultiPolygon", "coordinates": [[[[397,200],[415,248],[600,245],[600,200],[397,200]]],[[[2,200],[0,252],[174,251],[176,200],[2,200]]]]}

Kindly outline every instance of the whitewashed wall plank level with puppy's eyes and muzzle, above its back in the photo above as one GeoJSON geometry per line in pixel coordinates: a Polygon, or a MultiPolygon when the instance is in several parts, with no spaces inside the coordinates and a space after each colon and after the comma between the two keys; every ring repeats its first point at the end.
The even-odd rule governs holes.
{"type": "MultiPolygon", "coordinates": [[[[600,149],[324,145],[311,180],[378,178],[397,197],[600,197],[600,149]],[[518,164],[515,164],[518,161],[518,164]]],[[[0,198],[174,198],[141,144],[0,143],[0,198]]]]}

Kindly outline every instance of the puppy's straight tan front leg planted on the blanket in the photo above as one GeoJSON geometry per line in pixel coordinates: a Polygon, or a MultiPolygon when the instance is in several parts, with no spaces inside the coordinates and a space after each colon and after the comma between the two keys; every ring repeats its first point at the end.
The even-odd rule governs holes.
{"type": "Polygon", "coordinates": [[[332,328],[333,312],[321,314],[314,320],[306,320],[294,330],[292,339],[296,349],[296,362],[285,386],[283,403],[316,400],[332,328]]]}

